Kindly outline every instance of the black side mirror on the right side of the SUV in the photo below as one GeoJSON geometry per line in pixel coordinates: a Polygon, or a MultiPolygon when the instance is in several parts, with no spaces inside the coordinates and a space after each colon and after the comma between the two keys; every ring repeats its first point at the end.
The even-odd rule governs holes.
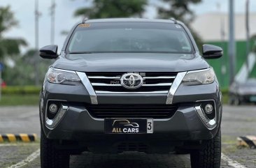
{"type": "Polygon", "coordinates": [[[222,56],[223,50],[215,45],[203,45],[203,57],[205,59],[218,59],[222,56]]]}

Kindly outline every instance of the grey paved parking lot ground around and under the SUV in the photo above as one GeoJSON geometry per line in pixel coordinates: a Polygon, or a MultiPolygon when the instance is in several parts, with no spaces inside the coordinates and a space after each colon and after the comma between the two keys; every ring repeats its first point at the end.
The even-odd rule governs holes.
{"type": "MultiPolygon", "coordinates": [[[[0,133],[36,133],[40,126],[37,107],[0,107],[0,133]]],[[[256,167],[256,149],[236,148],[236,137],[256,135],[256,107],[241,106],[223,109],[222,119],[222,167],[256,167]],[[235,162],[236,161],[236,162],[235,162]],[[240,165],[239,165],[240,164],[240,165]]],[[[38,142],[31,144],[0,144],[0,167],[15,165],[39,148],[38,142]]],[[[34,153],[33,153],[34,155],[34,153]]],[[[31,156],[29,156],[31,157],[31,156]]],[[[31,159],[28,159],[31,161],[31,159]]],[[[40,167],[40,158],[24,167],[40,167]]],[[[23,162],[24,163],[24,162],[23,162]]],[[[119,155],[71,156],[71,167],[190,167],[189,155],[145,155],[125,153],[119,155]]]]}

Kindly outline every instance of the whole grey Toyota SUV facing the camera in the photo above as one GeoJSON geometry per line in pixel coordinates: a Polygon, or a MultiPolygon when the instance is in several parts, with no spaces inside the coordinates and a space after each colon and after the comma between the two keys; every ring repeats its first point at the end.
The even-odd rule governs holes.
{"type": "Polygon", "coordinates": [[[203,45],[176,20],[83,20],[64,47],[40,49],[50,66],[40,96],[41,167],[70,155],[190,153],[192,168],[220,167],[220,86],[203,45]]]}

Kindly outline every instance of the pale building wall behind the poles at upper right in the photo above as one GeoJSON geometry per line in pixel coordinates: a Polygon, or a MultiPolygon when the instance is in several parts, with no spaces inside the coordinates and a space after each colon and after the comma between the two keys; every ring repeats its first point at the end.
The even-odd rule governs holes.
{"type": "MultiPolygon", "coordinates": [[[[250,13],[250,36],[256,35],[256,13],[250,13]]],[[[199,34],[203,41],[229,40],[229,15],[228,13],[205,13],[197,15],[192,21],[192,29],[199,34]]],[[[246,40],[246,15],[235,13],[234,35],[239,41],[246,40]]]]}

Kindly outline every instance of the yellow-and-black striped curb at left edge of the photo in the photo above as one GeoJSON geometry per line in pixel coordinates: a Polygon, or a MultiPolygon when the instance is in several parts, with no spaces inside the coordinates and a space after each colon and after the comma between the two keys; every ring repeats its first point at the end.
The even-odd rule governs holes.
{"type": "Polygon", "coordinates": [[[3,142],[35,142],[36,134],[5,134],[0,135],[0,143],[3,142]]]}

